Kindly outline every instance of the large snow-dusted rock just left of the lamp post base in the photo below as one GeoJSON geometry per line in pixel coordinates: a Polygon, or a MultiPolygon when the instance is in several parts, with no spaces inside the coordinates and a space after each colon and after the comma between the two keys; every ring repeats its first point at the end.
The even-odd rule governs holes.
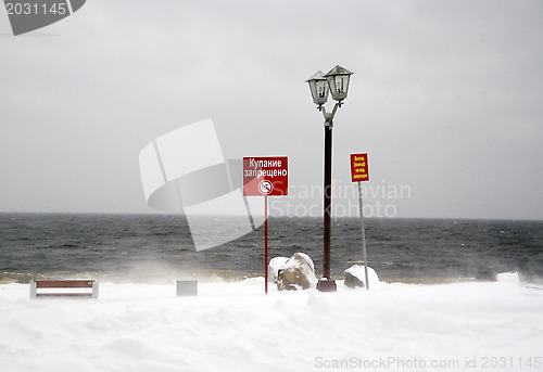
{"type": "Polygon", "coordinates": [[[311,257],[304,253],[295,253],[277,272],[279,291],[314,288],[316,284],[315,266],[311,257]]]}

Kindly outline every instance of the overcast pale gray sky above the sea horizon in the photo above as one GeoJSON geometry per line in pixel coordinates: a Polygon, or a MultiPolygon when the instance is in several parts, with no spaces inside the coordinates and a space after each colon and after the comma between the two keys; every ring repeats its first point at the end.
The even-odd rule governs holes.
{"type": "Polygon", "coordinates": [[[206,118],[227,158],[289,156],[273,213],[320,205],[304,80],[340,64],[333,178],[369,154],[368,217],[543,219],[542,1],[89,0],[17,37],[2,9],[0,34],[0,211],[153,211],[139,152],[206,118]]]}

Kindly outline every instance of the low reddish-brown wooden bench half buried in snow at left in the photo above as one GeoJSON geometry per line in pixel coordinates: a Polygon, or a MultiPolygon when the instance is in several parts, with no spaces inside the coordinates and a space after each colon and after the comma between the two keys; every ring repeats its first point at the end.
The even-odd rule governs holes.
{"type": "Polygon", "coordinates": [[[76,279],[30,282],[30,298],[59,296],[98,298],[98,281],[76,279]]]}

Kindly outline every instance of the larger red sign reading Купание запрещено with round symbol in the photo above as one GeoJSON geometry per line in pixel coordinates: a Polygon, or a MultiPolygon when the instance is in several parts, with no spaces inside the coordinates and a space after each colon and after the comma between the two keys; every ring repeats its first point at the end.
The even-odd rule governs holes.
{"type": "Polygon", "coordinates": [[[287,156],[243,157],[243,195],[283,196],[288,189],[287,156]]]}

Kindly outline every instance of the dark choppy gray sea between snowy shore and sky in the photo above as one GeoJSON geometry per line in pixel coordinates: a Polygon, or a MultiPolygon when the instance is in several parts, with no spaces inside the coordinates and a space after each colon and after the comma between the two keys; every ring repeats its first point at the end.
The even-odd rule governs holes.
{"type": "MultiPolygon", "coordinates": [[[[210,234],[219,219],[210,219],[210,234]]],[[[332,221],[331,274],[362,265],[358,218],[332,221]]],[[[492,281],[517,271],[543,284],[543,221],[365,219],[368,265],[381,280],[492,281]]],[[[182,215],[0,214],[0,283],[92,278],[159,283],[263,275],[264,228],[195,252],[182,215]]],[[[323,219],[268,219],[268,257],[303,252],[323,274],[323,219]]]]}

